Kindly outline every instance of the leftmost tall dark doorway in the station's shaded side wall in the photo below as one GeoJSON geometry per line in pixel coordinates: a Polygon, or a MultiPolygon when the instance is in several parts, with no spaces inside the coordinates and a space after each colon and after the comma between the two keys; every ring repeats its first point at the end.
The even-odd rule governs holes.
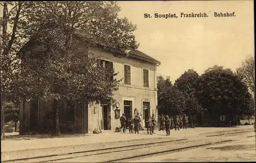
{"type": "Polygon", "coordinates": [[[30,131],[36,131],[38,128],[38,100],[31,100],[30,104],[30,131]]]}

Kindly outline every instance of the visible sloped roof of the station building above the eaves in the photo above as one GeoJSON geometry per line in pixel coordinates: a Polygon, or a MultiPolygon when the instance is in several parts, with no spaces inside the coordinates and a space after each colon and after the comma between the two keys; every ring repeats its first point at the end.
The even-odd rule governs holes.
{"type": "MultiPolygon", "coordinates": [[[[91,34],[86,34],[86,33],[81,33],[81,32],[78,32],[76,31],[75,34],[78,36],[78,37],[82,37],[83,39],[86,39],[87,41],[92,41],[96,44],[100,44],[102,46],[106,46],[105,44],[103,43],[98,43],[98,41],[95,39],[95,37],[91,34]]],[[[114,49],[113,49],[114,50],[114,49]]],[[[122,50],[114,50],[115,52],[119,52],[121,53],[122,55],[124,55],[124,51],[126,49],[122,49],[122,50]]],[[[137,58],[137,59],[141,59],[141,60],[144,60],[144,61],[147,61],[147,62],[152,62],[152,63],[156,63],[156,64],[161,64],[161,62],[155,60],[154,58],[146,55],[145,53],[143,53],[142,51],[139,51],[139,50],[131,50],[129,51],[129,56],[131,57],[134,57],[134,58],[137,58]]]]}

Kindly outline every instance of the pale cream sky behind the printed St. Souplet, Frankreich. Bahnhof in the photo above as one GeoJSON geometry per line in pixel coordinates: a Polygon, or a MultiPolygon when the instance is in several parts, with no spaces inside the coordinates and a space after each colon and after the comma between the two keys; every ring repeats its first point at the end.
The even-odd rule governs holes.
{"type": "Polygon", "coordinates": [[[188,69],[201,75],[214,65],[240,66],[254,55],[253,1],[119,1],[119,17],[137,25],[138,50],[161,62],[157,75],[172,82],[188,69]],[[206,13],[208,17],[181,18],[180,13],[206,13]],[[214,12],[236,17],[214,17],[214,12]],[[144,13],[176,13],[178,18],[144,18],[144,13]]]}

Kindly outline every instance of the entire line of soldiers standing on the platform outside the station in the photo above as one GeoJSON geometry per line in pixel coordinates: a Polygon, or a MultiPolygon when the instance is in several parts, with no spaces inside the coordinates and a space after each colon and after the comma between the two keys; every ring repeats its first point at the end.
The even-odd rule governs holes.
{"type": "MultiPolygon", "coordinates": [[[[160,117],[160,128],[159,130],[166,131],[166,135],[170,135],[170,130],[180,130],[181,128],[187,129],[188,128],[188,116],[185,114],[183,116],[177,115],[177,116],[163,116],[160,117]]],[[[126,131],[126,126],[129,127],[129,133],[134,133],[133,129],[135,130],[135,133],[139,133],[139,128],[141,127],[141,119],[139,114],[136,114],[136,116],[133,118],[131,115],[128,119],[126,119],[125,114],[123,114],[120,118],[121,122],[121,129],[123,129],[123,132],[126,131]]],[[[147,134],[153,134],[155,133],[155,126],[156,126],[156,119],[154,117],[154,114],[152,117],[148,115],[145,119],[145,127],[147,130],[147,134]]],[[[141,127],[142,128],[142,127],[141,127]]]]}

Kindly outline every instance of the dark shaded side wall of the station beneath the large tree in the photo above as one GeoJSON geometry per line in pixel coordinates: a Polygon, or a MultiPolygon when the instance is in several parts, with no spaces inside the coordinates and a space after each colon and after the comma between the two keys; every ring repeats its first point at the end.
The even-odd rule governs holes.
{"type": "MultiPolygon", "coordinates": [[[[59,125],[61,133],[88,133],[88,113],[86,104],[76,103],[74,106],[74,121],[67,121],[67,102],[61,101],[59,104],[59,125]],[[82,125],[83,124],[83,125],[82,125]]],[[[25,102],[25,117],[23,119],[23,102],[20,104],[20,129],[22,134],[32,132],[30,129],[30,107],[31,101],[25,102]]],[[[52,102],[43,102],[38,100],[38,121],[36,132],[51,133],[52,129],[52,102]]]]}

